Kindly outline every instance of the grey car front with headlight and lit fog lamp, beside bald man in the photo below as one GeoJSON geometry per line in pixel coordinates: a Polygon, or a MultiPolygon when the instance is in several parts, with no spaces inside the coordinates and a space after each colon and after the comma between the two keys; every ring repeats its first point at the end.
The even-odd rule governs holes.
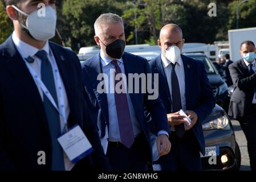
{"type": "Polygon", "coordinates": [[[202,129],[205,137],[205,156],[201,155],[204,170],[239,170],[241,152],[235,140],[235,133],[229,116],[224,109],[216,105],[213,113],[203,122],[202,129]],[[211,158],[215,152],[216,163],[211,158]],[[211,159],[210,159],[211,158],[211,159]]]}

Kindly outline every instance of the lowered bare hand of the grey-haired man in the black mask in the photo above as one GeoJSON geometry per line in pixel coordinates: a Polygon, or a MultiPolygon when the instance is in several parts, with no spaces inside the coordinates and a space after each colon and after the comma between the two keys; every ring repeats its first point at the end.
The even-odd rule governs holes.
{"type": "Polygon", "coordinates": [[[165,134],[161,134],[157,137],[157,150],[159,151],[159,155],[166,155],[170,152],[170,141],[165,134]]]}

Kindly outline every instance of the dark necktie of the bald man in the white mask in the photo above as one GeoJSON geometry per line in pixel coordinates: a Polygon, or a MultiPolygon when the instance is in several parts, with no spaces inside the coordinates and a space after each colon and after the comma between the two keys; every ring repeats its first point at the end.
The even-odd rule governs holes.
{"type": "MultiPolygon", "coordinates": [[[[172,63],[171,63],[172,64],[172,63]]],[[[172,102],[173,102],[173,113],[182,109],[181,96],[180,96],[180,85],[178,84],[178,77],[175,72],[175,66],[177,63],[172,64],[172,102]]],[[[185,134],[184,124],[175,125],[175,133],[178,137],[183,137],[185,134]]]]}

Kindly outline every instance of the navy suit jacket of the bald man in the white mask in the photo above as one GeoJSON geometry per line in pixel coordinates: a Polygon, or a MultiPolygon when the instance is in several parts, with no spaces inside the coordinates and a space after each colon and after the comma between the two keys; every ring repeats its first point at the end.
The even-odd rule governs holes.
{"type": "MultiPolygon", "coordinates": [[[[193,110],[198,116],[198,122],[192,128],[202,154],[205,154],[205,140],[202,122],[212,113],[215,106],[212,88],[202,61],[181,55],[185,72],[186,110],[193,110]]],[[[170,97],[168,81],[162,66],[161,55],[149,62],[153,73],[159,73],[159,94],[167,113],[172,112],[172,98],[170,97]]]]}

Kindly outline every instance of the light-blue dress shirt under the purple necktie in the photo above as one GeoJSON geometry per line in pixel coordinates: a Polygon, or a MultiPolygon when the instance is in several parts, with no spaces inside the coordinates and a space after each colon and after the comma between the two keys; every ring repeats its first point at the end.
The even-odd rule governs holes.
{"type": "MultiPolygon", "coordinates": [[[[117,112],[116,112],[116,102],[115,102],[115,93],[113,90],[111,91],[111,88],[109,86],[110,79],[111,79],[111,69],[112,71],[115,69],[115,66],[111,63],[111,59],[106,57],[102,51],[100,51],[100,57],[101,57],[101,66],[103,69],[103,73],[105,73],[108,76],[108,81],[105,82],[105,85],[108,85],[108,92],[107,92],[107,101],[108,101],[108,117],[109,117],[109,133],[108,138],[109,142],[121,142],[120,139],[120,133],[119,133],[119,125],[118,125],[118,118],[117,118],[117,112]]],[[[117,63],[121,69],[121,72],[125,74],[124,69],[124,61],[123,59],[118,59],[117,63]]],[[[115,75],[113,75],[115,76],[115,75]]],[[[115,84],[113,84],[115,85],[115,84]]],[[[126,89],[127,92],[127,89],[126,89]]],[[[134,107],[132,105],[131,97],[127,93],[127,101],[129,106],[129,113],[131,116],[131,122],[133,127],[133,134],[136,137],[139,135],[143,130],[141,129],[140,123],[137,120],[134,107]]],[[[165,134],[167,136],[168,133],[164,130],[159,131],[158,135],[165,134]]]]}

